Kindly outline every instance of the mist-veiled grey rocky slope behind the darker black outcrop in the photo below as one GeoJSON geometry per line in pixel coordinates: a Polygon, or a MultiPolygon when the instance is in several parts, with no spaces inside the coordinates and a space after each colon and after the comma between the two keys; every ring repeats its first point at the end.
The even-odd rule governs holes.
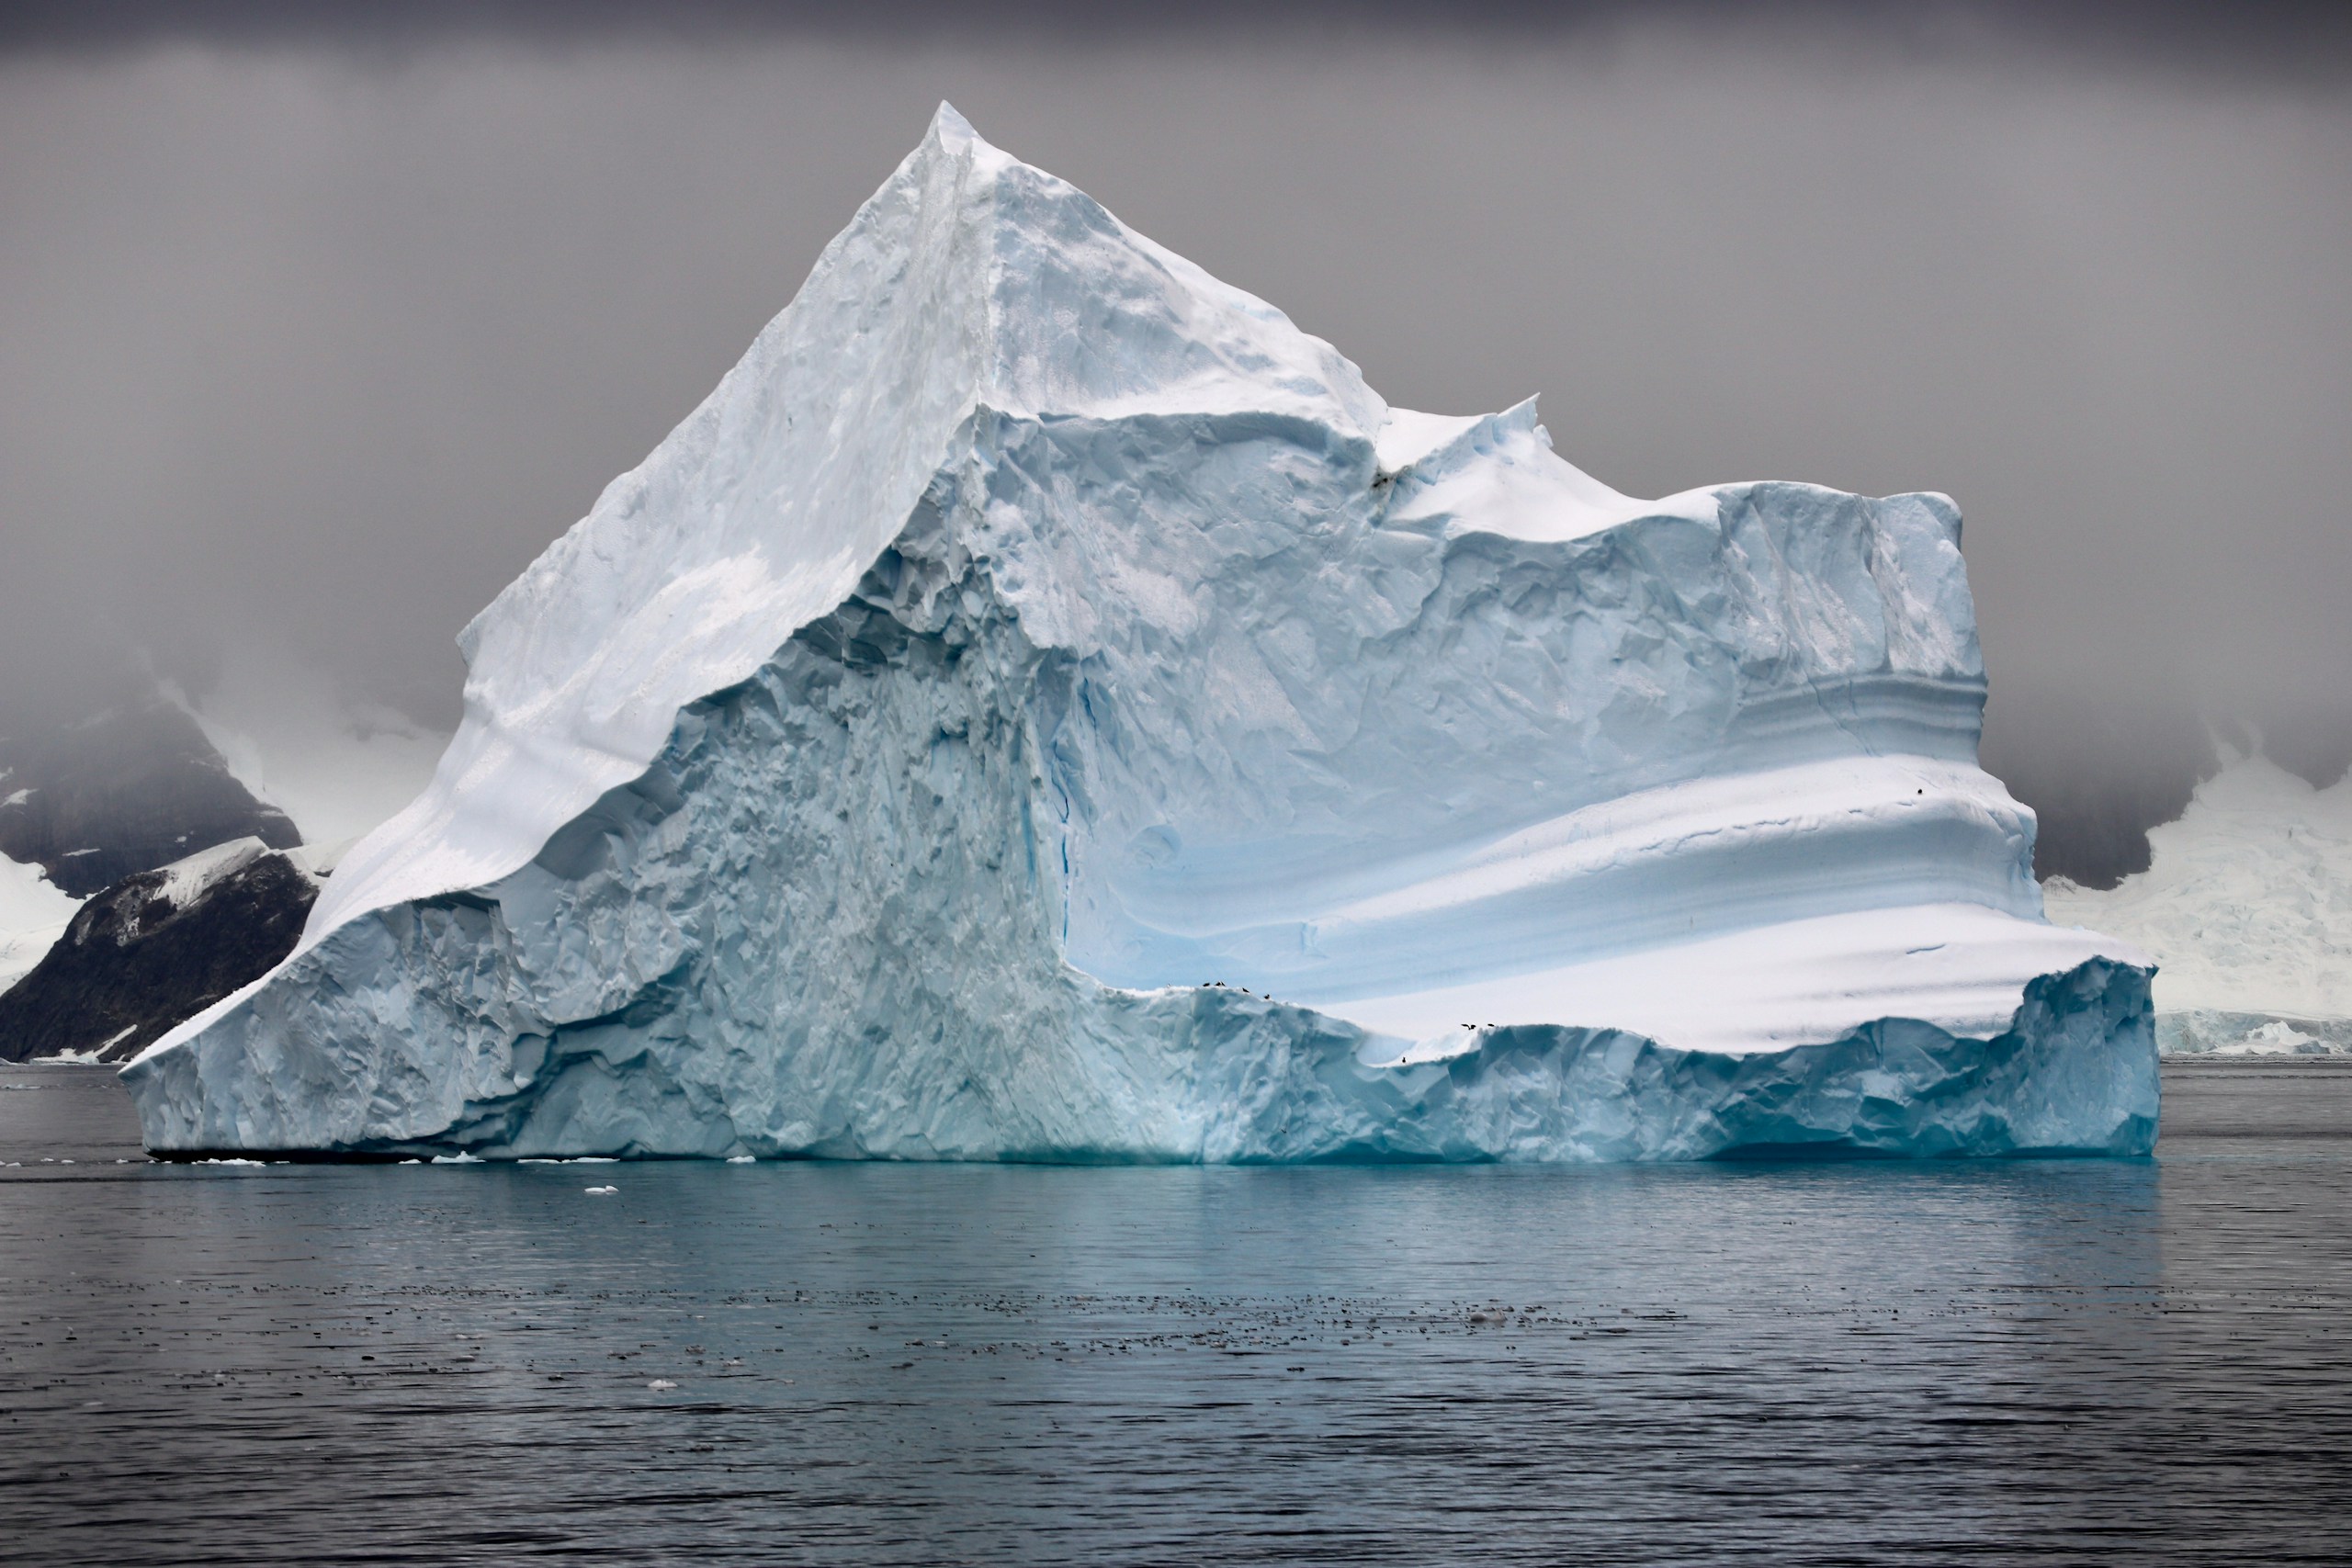
{"type": "Polygon", "coordinates": [[[0,731],[0,853],[75,898],[242,837],[301,844],[287,813],[254,799],[162,696],[73,722],[12,715],[0,731]]]}

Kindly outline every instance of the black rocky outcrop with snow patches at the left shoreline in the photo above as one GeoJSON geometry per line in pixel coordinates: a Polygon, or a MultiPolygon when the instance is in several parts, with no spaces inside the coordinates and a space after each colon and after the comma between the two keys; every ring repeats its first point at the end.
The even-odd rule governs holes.
{"type": "Polygon", "coordinates": [[[252,837],[125,877],[0,992],[0,1060],[61,1051],[129,1060],[292,952],[318,886],[252,837]]]}

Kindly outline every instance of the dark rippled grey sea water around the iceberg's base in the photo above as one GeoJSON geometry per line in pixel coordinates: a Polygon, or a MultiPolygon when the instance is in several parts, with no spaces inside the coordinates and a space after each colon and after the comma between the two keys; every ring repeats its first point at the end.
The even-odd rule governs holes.
{"type": "Polygon", "coordinates": [[[2154,1161],[254,1168],[0,1070],[0,1559],[2352,1561],[2352,1065],[2164,1088],[2154,1161]]]}

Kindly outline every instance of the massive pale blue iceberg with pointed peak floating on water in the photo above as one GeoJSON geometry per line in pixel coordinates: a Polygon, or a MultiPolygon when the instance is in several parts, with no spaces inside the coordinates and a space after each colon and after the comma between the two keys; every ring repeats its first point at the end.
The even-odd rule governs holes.
{"type": "Polygon", "coordinates": [[[148,1147],[2140,1154],[1943,496],[1637,501],[941,106],[461,635],[466,717],[148,1147]]]}

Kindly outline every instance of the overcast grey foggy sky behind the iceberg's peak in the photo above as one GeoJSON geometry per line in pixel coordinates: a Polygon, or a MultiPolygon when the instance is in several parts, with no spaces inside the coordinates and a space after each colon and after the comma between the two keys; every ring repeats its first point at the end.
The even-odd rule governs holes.
{"type": "Polygon", "coordinates": [[[452,724],[459,625],[953,99],[1395,404],[1950,491],[2046,813],[2206,724],[2352,755],[2333,12],[1249,14],[0,12],[0,698],[252,642],[452,724]]]}

